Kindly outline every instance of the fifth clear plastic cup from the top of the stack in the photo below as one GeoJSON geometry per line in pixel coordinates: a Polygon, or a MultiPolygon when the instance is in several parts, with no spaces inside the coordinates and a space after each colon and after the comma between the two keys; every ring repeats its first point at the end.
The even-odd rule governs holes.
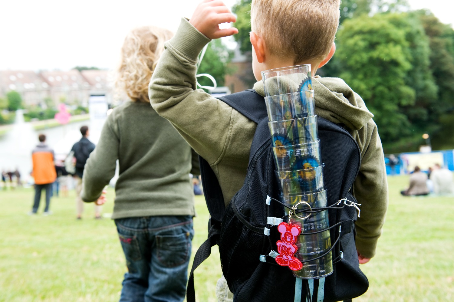
{"type": "Polygon", "coordinates": [[[323,166],[296,171],[277,171],[281,192],[285,196],[323,191],[323,166]]]}

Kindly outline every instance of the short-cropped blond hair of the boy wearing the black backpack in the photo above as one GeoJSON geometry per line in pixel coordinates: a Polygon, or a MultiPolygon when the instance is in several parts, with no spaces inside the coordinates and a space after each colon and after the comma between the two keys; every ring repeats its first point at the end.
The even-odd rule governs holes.
{"type": "Polygon", "coordinates": [[[252,0],[252,31],[268,51],[294,64],[323,60],[334,42],[340,0],[252,0]]]}

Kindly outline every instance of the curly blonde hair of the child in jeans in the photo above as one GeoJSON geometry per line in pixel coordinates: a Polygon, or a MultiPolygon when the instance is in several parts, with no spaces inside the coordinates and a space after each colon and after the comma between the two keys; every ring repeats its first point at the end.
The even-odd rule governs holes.
{"type": "Polygon", "coordinates": [[[126,92],[133,102],[149,103],[148,84],[164,50],[164,42],[172,36],[170,30],[155,26],[132,30],[121,48],[115,88],[126,92]]]}

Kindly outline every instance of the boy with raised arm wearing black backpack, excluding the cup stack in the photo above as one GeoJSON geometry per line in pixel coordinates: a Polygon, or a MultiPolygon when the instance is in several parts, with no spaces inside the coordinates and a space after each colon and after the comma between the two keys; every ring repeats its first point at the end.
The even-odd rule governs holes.
{"type": "MultiPolygon", "coordinates": [[[[254,90],[217,99],[196,89],[198,54],[211,39],[238,31],[219,28],[219,24],[236,21],[222,1],[205,0],[190,20],[181,21],[173,39],[165,44],[166,50],[149,85],[153,108],[173,124],[202,158],[203,188],[215,219],[200,257],[199,252],[195,256],[193,269],[203,260],[202,254],[209,255],[206,248],[218,243],[222,272],[234,301],[294,301],[291,299],[298,295],[302,301],[306,296],[309,300],[316,297],[315,301],[339,301],[367,290],[367,278],[359,263],[366,263],[375,255],[385,222],[388,188],[373,114],[343,80],[315,76],[317,69],[334,54],[339,7],[339,0],[253,0],[252,69],[258,82],[254,90]],[[272,214],[276,215],[274,218],[285,214],[281,204],[270,200],[278,199],[279,194],[270,156],[271,138],[260,73],[296,64],[311,64],[315,112],[323,118],[319,123],[322,160],[324,171],[329,172],[324,173],[324,180],[328,194],[332,192],[334,198],[329,204],[345,203],[330,212],[334,272],[326,280],[306,281],[302,288],[296,286],[288,268],[268,260],[272,251],[277,250],[275,243],[279,237],[276,227],[263,228],[267,218],[277,220],[272,219],[272,214]],[[320,131],[322,125],[328,129],[327,134],[320,131]],[[330,139],[331,136],[339,140],[330,139]],[[261,144],[257,144],[259,141],[261,144]],[[267,158],[268,164],[263,164],[267,158]],[[346,199],[351,203],[347,204],[346,199]],[[219,200],[222,207],[217,203],[219,200]],[[360,217],[355,215],[355,208],[360,209],[360,217]],[[271,216],[267,216],[267,211],[271,216]],[[270,235],[264,235],[267,230],[270,235]],[[271,237],[277,238],[274,243],[271,237]]],[[[222,287],[222,282],[219,283],[222,287]]],[[[195,299],[191,286],[192,277],[188,302],[195,299]]]]}

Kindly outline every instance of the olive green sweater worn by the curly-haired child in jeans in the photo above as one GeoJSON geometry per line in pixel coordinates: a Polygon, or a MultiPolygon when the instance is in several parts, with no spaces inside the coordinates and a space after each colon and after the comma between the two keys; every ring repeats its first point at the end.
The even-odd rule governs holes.
{"type": "MultiPolygon", "coordinates": [[[[148,103],[126,102],[104,124],[84,168],[82,199],[93,202],[115,174],[112,218],[195,215],[189,172],[191,147],[148,103]]],[[[109,201],[108,201],[109,202],[109,201]]]]}

